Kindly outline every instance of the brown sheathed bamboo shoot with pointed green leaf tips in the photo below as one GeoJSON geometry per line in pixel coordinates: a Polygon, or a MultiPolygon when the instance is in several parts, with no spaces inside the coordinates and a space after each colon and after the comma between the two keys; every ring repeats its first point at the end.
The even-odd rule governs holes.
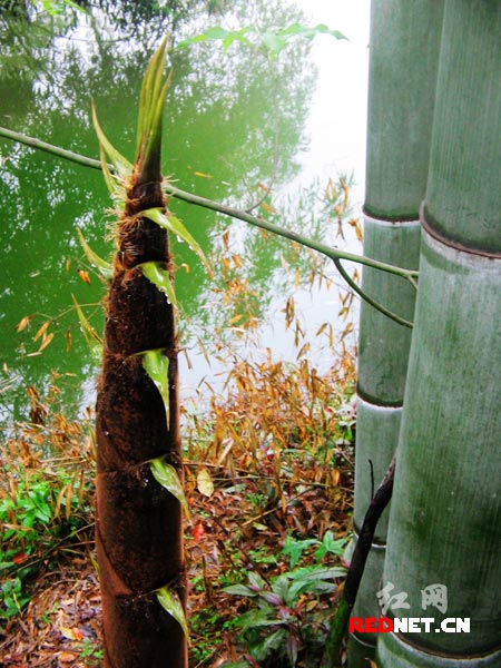
{"type": "Polygon", "coordinates": [[[134,165],[94,110],[105,180],[122,209],[96,406],[105,668],[187,667],[178,345],[160,173],[166,47],[144,78],[134,165]]]}

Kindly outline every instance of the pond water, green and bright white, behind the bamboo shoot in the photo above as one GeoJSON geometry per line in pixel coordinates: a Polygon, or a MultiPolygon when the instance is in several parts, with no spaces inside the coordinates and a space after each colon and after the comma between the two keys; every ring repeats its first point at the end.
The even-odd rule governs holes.
{"type": "MultiPolygon", "coordinates": [[[[11,10],[9,2],[0,8],[0,126],[91,157],[98,155],[91,100],[111,141],[132,157],[140,78],[166,32],[176,46],[215,24],[266,29],[301,21],[341,30],[350,41],[294,39],[276,58],[240,43],[227,51],[219,43],[174,50],[163,169],[185,190],[240,208],[263,200],[256,215],[360,250],[351,226],[345,240],[336,237],[336,215],[324,193],[330,179],[353,173],[350,215],[357,215],[369,0],[98,0],[86,13],[58,17],[28,0],[10,4],[11,10]]],[[[109,256],[109,206],[99,171],[0,138],[3,421],[26,418],[27,387],[42,392],[53,372],[70,413],[92,403],[97,367],[72,297],[100,331],[104,286],[86,261],[77,228],[98,254],[109,256]],[[27,324],[18,331],[21,321],[27,324]]],[[[247,354],[250,338],[254,350],[295,360],[293,327],[285,331],[283,314],[293,294],[307,324],[304,342],[324,322],[336,334],[343,331],[340,291],[335,284],[327,291],[325,281],[311,288],[311,259],[222,215],[174,199],[170,208],[215,263],[210,281],[189,249],[175,245],[181,342],[190,360],[181,370],[186,396],[194,396],[204,379],[223,382],[225,360],[247,354]],[[213,356],[210,366],[200,340],[213,356]]],[[[335,278],[330,265],[323,271],[335,278]]],[[[325,370],[334,352],[312,343],[308,354],[325,370]]]]}

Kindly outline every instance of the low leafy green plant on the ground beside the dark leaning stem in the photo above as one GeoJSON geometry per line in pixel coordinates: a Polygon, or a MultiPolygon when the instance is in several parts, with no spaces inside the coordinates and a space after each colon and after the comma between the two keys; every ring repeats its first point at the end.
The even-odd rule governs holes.
{"type": "Polygon", "coordinates": [[[237,620],[249,659],[232,666],[256,666],[257,661],[263,668],[291,668],[299,659],[302,666],[316,665],[328,632],[322,601],[325,595],[336,591],[338,579],[346,574],[343,567],[320,563],[327,552],[340,556],[346,543],[346,539],[335,541],[332,532],[327,533],[323,541],[288,540],[283,552],[291,557],[291,571],[268,582],[250,571],[247,584],[224,589],[226,593],[247,598],[250,606],[237,620]],[[295,568],[303,551],[314,544],[318,546],[317,562],[295,568]]]}

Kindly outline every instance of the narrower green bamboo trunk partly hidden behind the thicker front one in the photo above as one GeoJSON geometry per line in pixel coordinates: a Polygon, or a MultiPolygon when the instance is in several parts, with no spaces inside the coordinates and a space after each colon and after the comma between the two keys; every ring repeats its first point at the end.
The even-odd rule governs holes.
{"type": "MultiPolygon", "coordinates": [[[[418,268],[431,141],[443,2],[373,0],[364,204],[364,255],[418,268]]],[[[363,288],[413,320],[415,289],[401,278],[364,267],[363,288]]],[[[372,482],[382,481],[396,449],[412,330],[366,303],[361,307],[354,530],[360,531],[372,482]]],[[[377,617],[387,529],[384,512],[374,536],[354,617],[377,617]]],[[[351,668],[365,668],[376,635],[352,635],[351,668]]]]}

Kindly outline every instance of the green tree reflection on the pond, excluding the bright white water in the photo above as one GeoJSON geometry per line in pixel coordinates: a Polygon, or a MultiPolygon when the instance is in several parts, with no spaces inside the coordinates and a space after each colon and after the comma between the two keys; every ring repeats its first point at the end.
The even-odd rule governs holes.
{"type": "MultiPolygon", "coordinates": [[[[301,18],[278,0],[171,2],[157,12],[155,2],[100,0],[91,9],[81,4],[87,14],[69,11],[55,18],[33,11],[30,2],[16,3],[16,11],[2,3],[0,125],[90,156],[97,156],[90,122],[94,99],[110,140],[134,157],[140,78],[166,31],[176,43],[215,22],[266,28],[301,18]]],[[[304,68],[306,51],[297,42],[275,60],[242,46],[227,53],[214,45],[174,52],[164,173],[184,189],[245,207],[263,195],[257,184],[289,179],[297,170],[294,155],[314,80],[304,68]]],[[[59,383],[69,411],[82,403],[85,381],[92,385],[96,369],[71,295],[89,305],[86,314],[99,331],[104,286],[86,264],[76,226],[98,254],[109,256],[104,240],[109,206],[99,173],[0,140],[0,361],[8,367],[1,384],[2,419],[26,418],[27,385],[43,390],[52,370],[62,374],[59,383]],[[89,273],[90,284],[78,269],[89,273]],[[30,324],[18,333],[26,315],[32,316],[30,324]],[[49,318],[56,318],[47,331],[55,337],[38,355],[42,338],[33,342],[33,336],[49,318]]],[[[227,222],[178,202],[171,208],[210,255],[227,222]]],[[[262,243],[258,234],[242,226],[237,236],[249,258],[246,275],[259,295],[259,314],[272,294],[279,245],[262,243]]],[[[208,278],[184,245],[175,245],[175,259],[190,267],[189,273],[178,272],[176,289],[193,326],[199,327],[207,321],[208,278]]],[[[185,335],[188,338],[189,331],[185,335]]]]}

